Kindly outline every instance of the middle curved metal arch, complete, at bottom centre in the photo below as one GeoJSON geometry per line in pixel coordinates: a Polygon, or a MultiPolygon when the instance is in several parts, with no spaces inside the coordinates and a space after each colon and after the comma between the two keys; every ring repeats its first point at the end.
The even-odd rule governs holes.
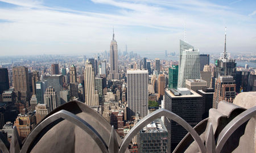
{"type": "Polygon", "coordinates": [[[163,109],[163,108],[158,109],[158,111],[152,112],[152,113],[148,114],[146,117],[142,118],[142,120],[139,121],[129,131],[129,133],[126,135],[125,139],[123,139],[122,144],[121,144],[120,149],[119,149],[119,152],[125,152],[127,146],[129,145],[129,143],[131,142],[133,137],[142,128],[144,128],[144,126],[146,126],[147,124],[149,124],[150,122],[154,121],[156,118],[159,118],[161,116],[165,116],[165,117],[177,122],[181,126],[183,126],[183,128],[185,128],[192,135],[192,137],[195,139],[195,141],[197,142],[197,145],[199,146],[199,150],[202,153],[206,152],[206,148],[204,146],[204,143],[202,142],[201,138],[196,133],[196,131],[185,120],[183,120],[183,118],[181,118],[181,117],[177,116],[177,114],[172,113],[170,111],[167,111],[166,109],[163,109]]]}

